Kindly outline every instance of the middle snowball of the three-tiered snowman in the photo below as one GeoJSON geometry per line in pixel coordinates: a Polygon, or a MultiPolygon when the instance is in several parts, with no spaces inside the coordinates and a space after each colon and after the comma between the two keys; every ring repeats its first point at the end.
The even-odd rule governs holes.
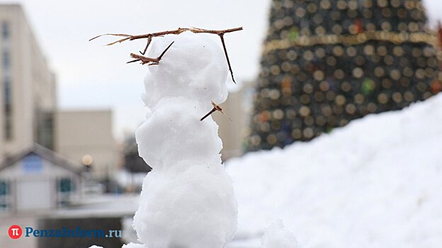
{"type": "MultiPolygon", "coordinates": [[[[212,106],[210,101],[205,104],[212,106]]],[[[210,108],[201,111],[199,103],[187,97],[162,99],[137,129],[140,156],[153,169],[185,169],[193,163],[221,164],[218,126],[211,119],[200,121],[208,111],[210,108]]]]}

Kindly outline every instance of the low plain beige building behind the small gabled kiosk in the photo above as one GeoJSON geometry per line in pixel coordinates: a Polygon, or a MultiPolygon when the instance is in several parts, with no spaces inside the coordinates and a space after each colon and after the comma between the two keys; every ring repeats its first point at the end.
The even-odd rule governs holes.
{"type": "Polygon", "coordinates": [[[97,179],[108,178],[118,164],[112,134],[112,112],[57,111],[54,115],[54,150],[91,167],[97,179]]]}

